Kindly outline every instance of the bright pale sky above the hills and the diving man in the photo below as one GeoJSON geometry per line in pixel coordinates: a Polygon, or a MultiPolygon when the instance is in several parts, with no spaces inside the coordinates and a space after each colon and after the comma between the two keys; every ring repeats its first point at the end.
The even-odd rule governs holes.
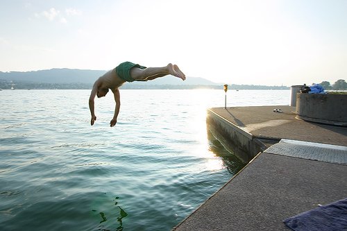
{"type": "Polygon", "coordinates": [[[176,64],[214,83],[347,80],[347,0],[0,0],[0,71],[176,64]]]}

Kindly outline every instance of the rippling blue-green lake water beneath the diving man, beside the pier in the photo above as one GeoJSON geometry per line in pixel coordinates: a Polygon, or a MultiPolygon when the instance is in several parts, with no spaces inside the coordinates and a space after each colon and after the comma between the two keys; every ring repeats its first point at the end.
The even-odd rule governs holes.
{"type": "MultiPolygon", "coordinates": [[[[244,166],[206,130],[223,90],[0,92],[0,230],[171,230],[244,166]]],[[[229,90],[227,105],[289,105],[289,90],[229,90]]]]}

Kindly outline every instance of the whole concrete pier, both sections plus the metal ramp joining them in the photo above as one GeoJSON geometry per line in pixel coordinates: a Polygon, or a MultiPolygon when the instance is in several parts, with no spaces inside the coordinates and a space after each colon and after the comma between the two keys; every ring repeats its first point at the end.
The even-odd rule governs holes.
{"type": "Polygon", "coordinates": [[[174,230],[291,230],[283,220],[346,198],[347,128],[301,121],[294,111],[210,109],[212,134],[251,152],[239,154],[251,161],[174,230]]]}

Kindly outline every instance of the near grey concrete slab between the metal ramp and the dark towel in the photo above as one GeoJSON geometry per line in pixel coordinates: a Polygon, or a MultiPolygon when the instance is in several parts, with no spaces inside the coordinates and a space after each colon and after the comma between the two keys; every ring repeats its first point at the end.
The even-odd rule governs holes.
{"type": "Polygon", "coordinates": [[[347,196],[347,166],[261,153],[174,230],[291,230],[282,222],[347,196]]]}

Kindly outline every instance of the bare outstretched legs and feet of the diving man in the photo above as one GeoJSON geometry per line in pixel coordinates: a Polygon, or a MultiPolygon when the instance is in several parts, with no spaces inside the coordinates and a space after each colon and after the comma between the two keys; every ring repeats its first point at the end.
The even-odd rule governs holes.
{"type": "Polygon", "coordinates": [[[130,69],[130,76],[135,80],[153,80],[169,74],[185,80],[185,74],[180,71],[177,65],[172,65],[171,63],[166,67],[148,67],[146,69],[133,67],[130,69]]]}

